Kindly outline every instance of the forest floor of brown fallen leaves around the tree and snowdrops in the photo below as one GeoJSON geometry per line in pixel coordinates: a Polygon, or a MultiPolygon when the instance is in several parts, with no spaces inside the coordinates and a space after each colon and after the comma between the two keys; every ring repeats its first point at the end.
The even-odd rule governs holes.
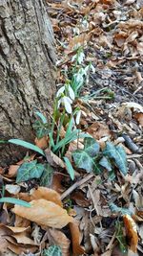
{"type": "MultiPolygon", "coordinates": [[[[28,208],[28,213],[24,206],[17,205],[11,211],[11,206],[4,203],[0,244],[6,244],[16,255],[143,255],[143,1],[52,0],[47,1],[47,11],[55,35],[57,90],[67,70],[72,70],[78,45],[84,53],[82,67],[92,63],[94,68],[88,79],[85,77],[85,86],[75,102],[81,109],[79,128],[91,134],[101,150],[112,142],[115,164],[111,168],[109,163],[102,163],[100,174],[73,164],[72,180],[63,168],[63,160],[48,149],[47,159],[54,172],[45,187],[41,180],[39,186],[36,178],[15,184],[23,160],[7,172],[1,170],[5,195],[27,202],[35,200],[35,209],[32,212],[28,208]],[[118,146],[126,154],[127,174],[122,168],[125,154],[118,155],[118,146]],[[38,204],[41,198],[62,211],[67,209],[68,216],[54,205],[47,208],[51,217],[47,216],[38,204]],[[51,220],[41,224],[40,216],[51,220]],[[71,223],[67,226],[63,219],[71,223]],[[60,246],[62,254],[58,247],[43,252],[52,244],[60,246]]],[[[64,137],[65,132],[63,128],[60,136],[64,137]]],[[[40,143],[36,139],[35,144],[44,148],[43,141],[40,143]]],[[[70,143],[65,155],[72,160],[72,151],[77,149],[83,151],[82,140],[70,143]]],[[[34,158],[43,161],[35,154],[29,160],[34,158]]],[[[12,254],[7,251],[2,255],[12,254]]]]}

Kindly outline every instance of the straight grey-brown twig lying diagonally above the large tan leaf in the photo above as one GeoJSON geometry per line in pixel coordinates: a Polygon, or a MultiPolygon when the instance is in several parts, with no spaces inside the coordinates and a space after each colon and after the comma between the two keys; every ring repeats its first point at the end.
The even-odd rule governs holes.
{"type": "Polygon", "coordinates": [[[66,190],[62,195],[61,195],[61,200],[64,198],[67,198],[73,190],[75,190],[77,187],[81,186],[82,184],[86,183],[88,180],[90,180],[94,175],[86,175],[83,177],[81,180],[76,181],[68,190],[66,190]]]}

